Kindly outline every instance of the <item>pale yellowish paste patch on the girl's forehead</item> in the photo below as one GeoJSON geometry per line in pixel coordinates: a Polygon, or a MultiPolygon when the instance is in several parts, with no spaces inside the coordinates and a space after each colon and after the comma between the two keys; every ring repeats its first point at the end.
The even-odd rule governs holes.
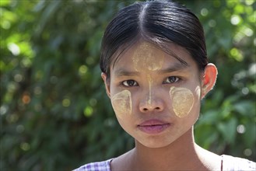
{"type": "Polygon", "coordinates": [[[160,49],[143,42],[135,49],[132,56],[135,71],[157,71],[163,66],[164,52],[160,49]]]}

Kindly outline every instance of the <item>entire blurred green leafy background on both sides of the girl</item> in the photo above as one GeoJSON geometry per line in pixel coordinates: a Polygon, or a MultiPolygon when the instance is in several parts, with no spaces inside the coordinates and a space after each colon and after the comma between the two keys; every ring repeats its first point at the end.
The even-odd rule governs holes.
{"type": "MultiPolygon", "coordinates": [[[[133,148],[98,65],[103,30],[133,2],[0,1],[1,170],[71,170],[133,148]]],[[[209,59],[219,68],[196,141],[255,161],[256,2],[179,2],[202,21],[209,59]]]]}

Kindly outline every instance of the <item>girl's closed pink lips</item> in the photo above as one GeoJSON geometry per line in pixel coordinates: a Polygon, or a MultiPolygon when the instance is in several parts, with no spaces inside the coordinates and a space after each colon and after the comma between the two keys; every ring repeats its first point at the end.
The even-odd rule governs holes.
{"type": "Polygon", "coordinates": [[[139,124],[137,127],[140,131],[143,131],[147,134],[159,134],[167,129],[167,127],[170,127],[170,123],[167,123],[163,120],[153,119],[146,120],[142,122],[142,124],[139,124]]]}

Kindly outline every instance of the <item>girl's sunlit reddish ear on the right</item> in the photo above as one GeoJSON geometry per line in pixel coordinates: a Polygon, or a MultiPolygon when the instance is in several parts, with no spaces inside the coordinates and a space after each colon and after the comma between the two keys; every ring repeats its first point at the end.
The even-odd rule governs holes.
{"type": "Polygon", "coordinates": [[[209,63],[208,65],[206,65],[204,76],[202,78],[202,97],[201,98],[204,98],[205,95],[211,89],[213,89],[213,86],[216,83],[217,75],[218,75],[218,70],[214,64],[209,63]]]}

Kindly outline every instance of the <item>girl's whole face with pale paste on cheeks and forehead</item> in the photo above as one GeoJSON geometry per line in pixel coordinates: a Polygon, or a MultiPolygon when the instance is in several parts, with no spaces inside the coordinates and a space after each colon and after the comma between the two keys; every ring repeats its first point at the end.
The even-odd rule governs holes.
{"type": "Polygon", "coordinates": [[[184,48],[170,44],[170,50],[187,64],[139,42],[110,66],[107,92],[117,120],[150,148],[170,145],[198,120],[202,73],[184,48]]]}

